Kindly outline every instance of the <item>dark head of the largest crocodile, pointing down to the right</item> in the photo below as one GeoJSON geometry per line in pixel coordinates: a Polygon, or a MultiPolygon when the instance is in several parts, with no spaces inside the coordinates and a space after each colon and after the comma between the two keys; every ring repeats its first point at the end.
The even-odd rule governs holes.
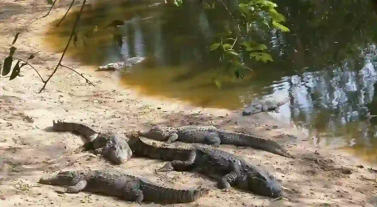
{"type": "Polygon", "coordinates": [[[283,195],[279,181],[273,175],[265,172],[242,172],[237,180],[237,186],[240,189],[271,198],[278,198],[283,195]]]}

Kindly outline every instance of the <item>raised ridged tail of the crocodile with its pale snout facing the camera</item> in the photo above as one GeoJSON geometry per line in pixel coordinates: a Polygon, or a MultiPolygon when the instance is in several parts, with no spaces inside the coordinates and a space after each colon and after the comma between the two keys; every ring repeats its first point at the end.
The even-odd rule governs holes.
{"type": "Polygon", "coordinates": [[[54,129],[55,131],[74,132],[86,137],[87,139],[90,139],[90,136],[97,133],[89,126],[85,126],[81,123],[62,122],[60,120],[58,120],[57,122],[55,122],[55,120],[52,121],[52,129],[54,129]]]}

